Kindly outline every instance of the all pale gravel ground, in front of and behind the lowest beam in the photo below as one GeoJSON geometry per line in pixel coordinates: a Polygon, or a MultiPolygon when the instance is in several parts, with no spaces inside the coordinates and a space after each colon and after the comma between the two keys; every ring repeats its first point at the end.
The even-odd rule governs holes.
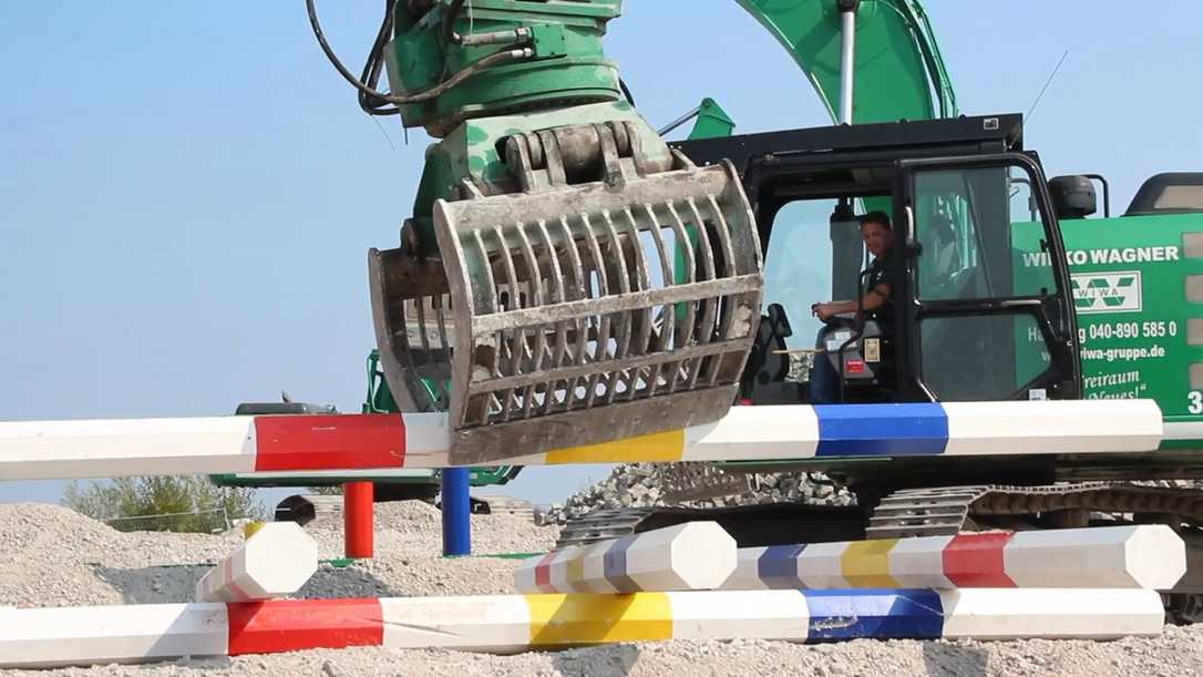
{"type": "MultiPolygon", "coordinates": [[[[378,506],[369,564],[324,568],[301,596],[404,596],[510,592],[514,560],[437,556],[438,511],[422,503],[378,506]]],[[[481,553],[537,552],[557,528],[509,516],[474,516],[481,553]]],[[[322,557],[342,552],[340,524],[310,525],[322,557]]],[[[0,505],[0,606],[189,601],[192,586],[239,541],[224,535],[132,533],[53,505],[0,505]]],[[[2,629],[0,629],[2,633],[2,629]]],[[[1203,628],[1167,626],[1160,637],[1116,642],[876,642],[799,646],[733,641],[621,645],[496,657],[360,648],[188,660],[142,666],[0,675],[166,677],[192,675],[1203,675],[1203,628]]]]}

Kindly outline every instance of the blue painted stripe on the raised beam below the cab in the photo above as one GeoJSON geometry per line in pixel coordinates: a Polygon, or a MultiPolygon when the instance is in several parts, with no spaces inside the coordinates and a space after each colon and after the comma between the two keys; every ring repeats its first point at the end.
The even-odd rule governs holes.
{"type": "Polygon", "coordinates": [[[948,414],[938,403],[819,404],[816,456],[940,456],[948,414]]]}

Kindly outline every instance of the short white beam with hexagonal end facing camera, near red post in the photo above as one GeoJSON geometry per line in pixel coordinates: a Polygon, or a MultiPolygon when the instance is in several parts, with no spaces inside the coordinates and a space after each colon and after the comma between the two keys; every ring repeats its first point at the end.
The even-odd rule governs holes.
{"type": "Polygon", "coordinates": [[[269,522],[196,582],[196,601],[291,595],[318,571],[318,544],[296,522],[269,522]]]}

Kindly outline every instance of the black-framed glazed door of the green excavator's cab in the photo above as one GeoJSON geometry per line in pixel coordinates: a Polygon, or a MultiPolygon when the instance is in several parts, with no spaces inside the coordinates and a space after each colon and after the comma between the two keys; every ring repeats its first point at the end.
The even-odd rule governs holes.
{"type": "Polygon", "coordinates": [[[1008,153],[896,167],[902,398],[1078,398],[1068,267],[1039,165],[1008,153]]]}

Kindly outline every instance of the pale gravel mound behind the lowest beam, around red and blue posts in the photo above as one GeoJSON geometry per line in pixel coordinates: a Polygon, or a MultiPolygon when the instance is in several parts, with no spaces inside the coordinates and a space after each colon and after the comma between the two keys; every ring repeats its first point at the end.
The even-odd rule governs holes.
{"type": "MultiPolygon", "coordinates": [[[[474,515],[472,521],[473,548],[481,554],[545,552],[558,531],[506,515],[474,515]]],[[[342,529],[336,519],[310,523],[307,530],[318,541],[320,557],[343,556],[342,529]]],[[[196,581],[241,541],[236,530],[122,533],[57,505],[0,505],[0,606],[191,601],[196,581]]],[[[515,560],[444,560],[440,548],[435,507],[421,501],[381,504],[379,557],[345,569],[322,566],[297,596],[511,592],[515,560]]]]}

